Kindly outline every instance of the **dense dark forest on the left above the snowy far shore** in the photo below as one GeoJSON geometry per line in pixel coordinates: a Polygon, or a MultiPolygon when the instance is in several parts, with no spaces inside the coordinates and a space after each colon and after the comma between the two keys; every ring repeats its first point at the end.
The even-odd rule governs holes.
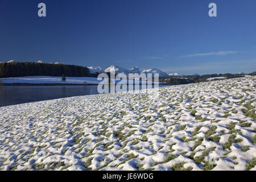
{"type": "Polygon", "coordinates": [[[0,63],[0,78],[20,76],[70,76],[70,77],[96,77],[86,67],[67,64],[49,63],[0,63]]]}

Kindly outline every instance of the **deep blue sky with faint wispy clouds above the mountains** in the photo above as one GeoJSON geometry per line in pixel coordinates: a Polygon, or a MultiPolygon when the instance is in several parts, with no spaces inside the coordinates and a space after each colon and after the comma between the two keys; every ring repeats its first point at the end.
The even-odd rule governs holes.
{"type": "Polygon", "coordinates": [[[1,0],[0,61],[253,72],[255,8],[255,0],[1,0]],[[217,17],[208,16],[211,2],[217,17]]]}

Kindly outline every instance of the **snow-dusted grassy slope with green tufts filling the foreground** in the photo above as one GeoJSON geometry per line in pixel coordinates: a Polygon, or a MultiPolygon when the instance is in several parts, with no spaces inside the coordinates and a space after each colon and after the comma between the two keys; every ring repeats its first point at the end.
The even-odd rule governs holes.
{"type": "Polygon", "coordinates": [[[0,107],[1,170],[255,170],[256,77],[0,107]]]}

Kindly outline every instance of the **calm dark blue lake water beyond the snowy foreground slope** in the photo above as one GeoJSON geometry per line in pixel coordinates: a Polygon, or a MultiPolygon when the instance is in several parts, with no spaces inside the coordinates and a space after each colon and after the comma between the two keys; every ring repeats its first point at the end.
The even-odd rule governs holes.
{"type": "MultiPolygon", "coordinates": [[[[170,85],[159,85],[170,86],[170,85]]],[[[52,100],[56,98],[98,94],[97,85],[1,86],[0,107],[52,100]]]]}

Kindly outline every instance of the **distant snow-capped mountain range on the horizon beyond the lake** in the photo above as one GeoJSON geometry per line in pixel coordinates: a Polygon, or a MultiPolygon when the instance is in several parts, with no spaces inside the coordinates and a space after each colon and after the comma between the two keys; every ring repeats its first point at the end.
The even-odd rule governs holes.
{"type": "Polygon", "coordinates": [[[90,73],[108,73],[108,72],[113,72],[115,71],[115,73],[125,73],[126,75],[128,75],[129,73],[158,73],[159,76],[167,76],[167,73],[161,71],[160,69],[157,68],[152,68],[152,69],[147,69],[147,70],[143,70],[140,69],[138,67],[133,67],[130,69],[125,69],[122,67],[119,67],[117,65],[111,65],[110,67],[106,68],[106,69],[102,69],[101,67],[88,67],[88,69],[90,70],[90,73]]]}

